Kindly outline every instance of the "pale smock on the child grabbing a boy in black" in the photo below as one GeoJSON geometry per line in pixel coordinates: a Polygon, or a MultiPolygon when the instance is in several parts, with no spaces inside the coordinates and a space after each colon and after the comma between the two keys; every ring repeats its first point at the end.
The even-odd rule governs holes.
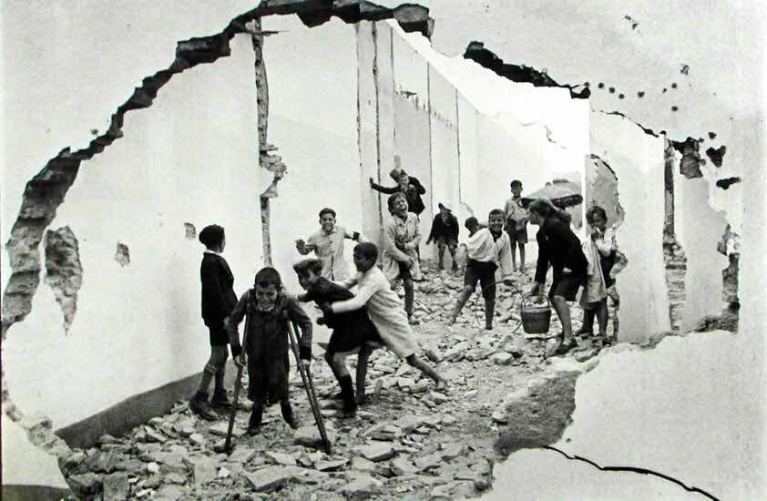
{"type": "Polygon", "coordinates": [[[367,307],[367,314],[381,335],[386,347],[398,357],[404,359],[415,353],[417,346],[404,313],[404,304],[392,287],[383,272],[373,266],[364,273],[340,283],[349,289],[356,284],[358,290],[352,299],[333,302],[333,313],[352,312],[363,306],[367,307]]]}

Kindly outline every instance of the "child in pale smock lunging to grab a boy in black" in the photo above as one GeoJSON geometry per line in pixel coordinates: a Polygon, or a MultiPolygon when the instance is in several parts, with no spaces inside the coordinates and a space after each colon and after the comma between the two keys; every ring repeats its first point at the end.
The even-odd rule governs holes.
{"type": "Polygon", "coordinates": [[[375,266],[377,260],[378,247],[374,243],[358,243],[354,247],[354,266],[359,273],[343,281],[342,285],[349,289],[356,284],[359,290],[350,300],[323,305],[322,312],[343,313],[367,307],[370,320],[373,321],[386,347],[434,380],[438,391],[445,390],[445,380],[423,360],[415,357],[413,331],[402,311],[402,302],[383,276],[383,272],[375,266]]]}

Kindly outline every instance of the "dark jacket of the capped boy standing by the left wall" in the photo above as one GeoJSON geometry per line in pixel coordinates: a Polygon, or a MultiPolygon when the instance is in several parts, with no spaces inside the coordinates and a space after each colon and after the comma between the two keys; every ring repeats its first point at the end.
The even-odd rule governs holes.
{"type": "Polygon", "coordinates": [[[232,289],[234,276],[224,258],[205,252],[199,265],[199,279],[202,282],[202,319],[205,325],[218,327],[237,304],[237,294],[232,289]]]}

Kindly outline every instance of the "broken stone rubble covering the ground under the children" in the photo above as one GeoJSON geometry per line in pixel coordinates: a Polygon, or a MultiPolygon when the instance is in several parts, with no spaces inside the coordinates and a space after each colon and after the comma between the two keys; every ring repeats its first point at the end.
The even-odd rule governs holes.
{"type": "MultiPolygon", "coordinates": [[[[417,340],[435,369],[449,381],[445,393],[394,353],[377,350],[367,378],[370,402],[351,419],[340,417],[339,390],[321,356],[312,374],[320,396],[332,455],[319,434],[291,371],[291,403],[302,427],[291,430],[279,405],[264,413],[261,435],[247,435],[250,403],[237,414],[231,455],[216,454],[228,424],[191,414],[185,402],[121,437],[104,435],[97,446],[73,450],[61,462],[75,494],[83,499],[455,499],[477,496],[492,484],[500,404],[545,370],[547,337],[519,327],[519,302],[532,271],[517,272],[510,288],[499,284],[496,325],[486,331],[483,302],[473,296],[452,327],[445,325],[463,287],[449,271],[416,283],[417,340]],[[507,322],[502,322],[506,320],[507,322]],[[518,328],[517,328],[518,327],[518,328]],[[497,423],[496,423],[497,422],[497,423]]],[[[580,312],[572,308],[575,325],[580,312]]],[[[550,332],[559,332],[552,315],[550,332]]],[[[581,340],[573,358],[587,360],[598,346],[581,340]]],[[[355,358],[347,363],[352,367],[355,358]]],[[[294,366],[294,365],[293,365],[294,366]]],[[[243,383],[247,375],[243,376],[243,383]]]]}

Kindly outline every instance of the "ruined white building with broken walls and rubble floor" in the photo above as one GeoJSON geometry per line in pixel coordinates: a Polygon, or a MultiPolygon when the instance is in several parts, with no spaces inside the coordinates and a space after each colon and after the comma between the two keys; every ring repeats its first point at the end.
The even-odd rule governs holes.
{"type": "Polygon", "coordinates": [[[756,0],[5,3],[4,499],[763,498],[765,19],[756,0]],[[324,409],[333,455],[281,423],[215,454],[184,404],[209,353],[199,230],[226,228],[238,294],[268,264],[297,292],[322,207],[381,241],[368,179],[395,165],[427,225],[445,202],[485,218],[511,179],[576,186],[580,238],[604,207],[629,262],[619,343],[551,357],[469,306],[447,329],[462,279],[433,268],[415,332],[446,398],[382,352],[378,404],[324,409]]]}

